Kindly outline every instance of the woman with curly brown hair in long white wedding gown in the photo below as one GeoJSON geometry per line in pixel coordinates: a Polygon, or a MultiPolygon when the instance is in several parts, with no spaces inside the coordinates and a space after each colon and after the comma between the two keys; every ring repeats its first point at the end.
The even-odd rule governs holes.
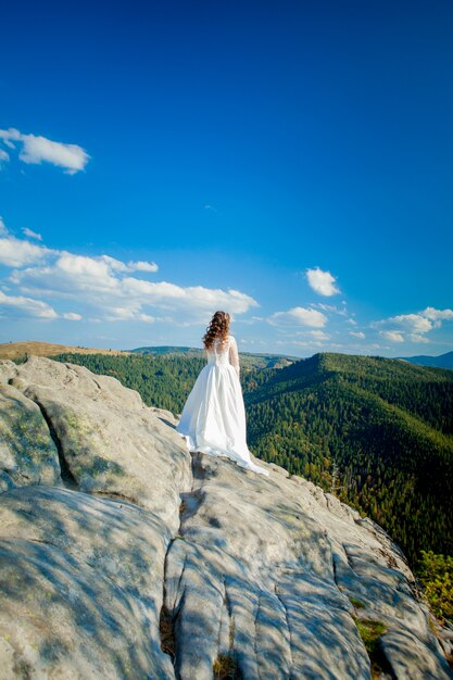
{"type": "Polygon", "coordinates": [[[227,312],[216,312],[207,326],[203,337],[207,364],[187,398],[176,430],[189,451],[227,456],[240,467],[268,475],[253,463],[247,446],[238,347],[229,323],[227,312]]]}

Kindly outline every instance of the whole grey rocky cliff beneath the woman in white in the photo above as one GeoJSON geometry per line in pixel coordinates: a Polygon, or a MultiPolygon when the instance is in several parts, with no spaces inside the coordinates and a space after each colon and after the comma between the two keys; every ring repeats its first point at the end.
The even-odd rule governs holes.
{"type": "Polygon", "coordinates": [[[113,378],[0,363],[1,679],[452,677],[377,525],[173,426],[113,378]]]}

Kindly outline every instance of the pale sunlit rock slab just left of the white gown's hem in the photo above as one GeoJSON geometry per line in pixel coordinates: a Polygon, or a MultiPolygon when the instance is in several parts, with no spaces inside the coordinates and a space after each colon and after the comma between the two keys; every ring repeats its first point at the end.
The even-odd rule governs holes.
{"type": "MultiPolygon", "coordinates": [[[[4,364],[10,376],[11,362],[4,364]]],[[[177,529],[190,455],[138,392],[83,366],[36,356],[15,367],[14,379],[52,429],[66,486],[128,499],[177,529]]]]}

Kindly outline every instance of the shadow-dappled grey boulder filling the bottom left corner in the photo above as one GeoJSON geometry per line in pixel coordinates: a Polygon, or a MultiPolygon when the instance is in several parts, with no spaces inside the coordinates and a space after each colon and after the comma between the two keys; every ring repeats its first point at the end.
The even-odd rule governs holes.
{"type": "Polygon", "coordinates": [[[173,677],[161,519],[54,487],[0,498],[0,678],[173,677]]]}

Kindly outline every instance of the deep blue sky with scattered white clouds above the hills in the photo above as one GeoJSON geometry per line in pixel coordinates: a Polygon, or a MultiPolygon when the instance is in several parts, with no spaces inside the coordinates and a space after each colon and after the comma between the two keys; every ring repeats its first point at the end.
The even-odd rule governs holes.
{"type": "Polygon", "coordinates": [[[2,24],[0,342],[453,350],[449,0],[2,24]]]}

